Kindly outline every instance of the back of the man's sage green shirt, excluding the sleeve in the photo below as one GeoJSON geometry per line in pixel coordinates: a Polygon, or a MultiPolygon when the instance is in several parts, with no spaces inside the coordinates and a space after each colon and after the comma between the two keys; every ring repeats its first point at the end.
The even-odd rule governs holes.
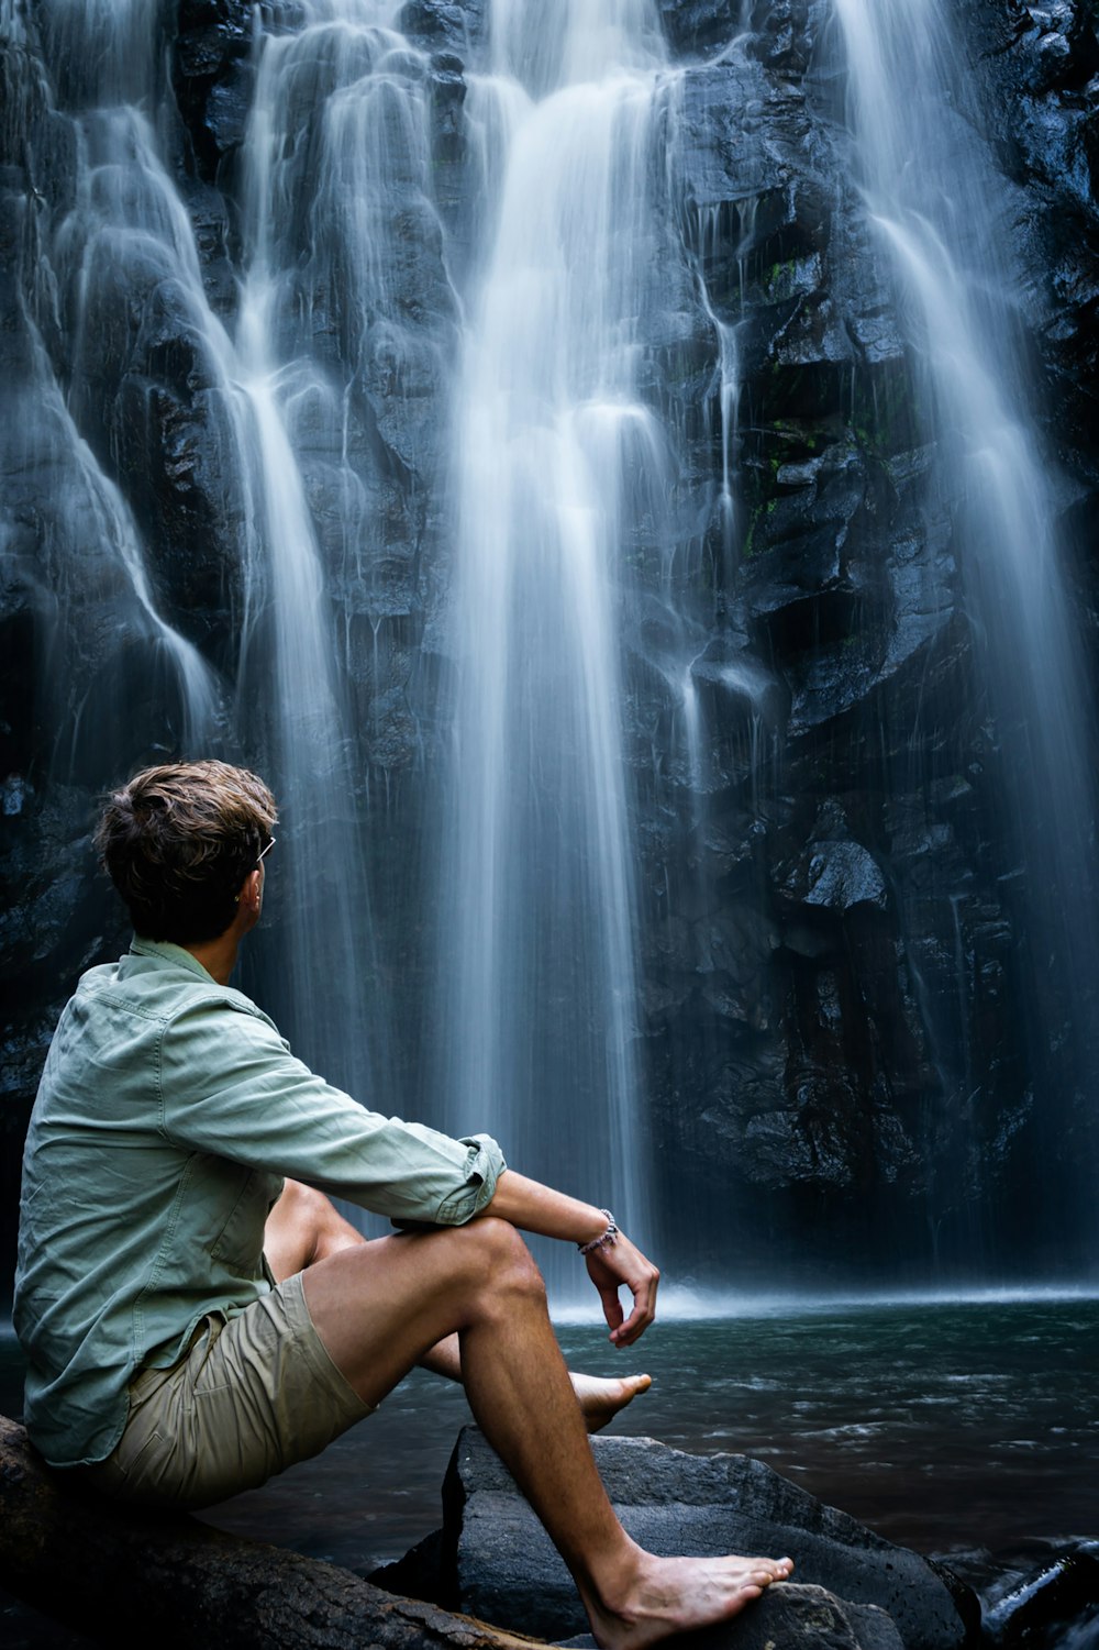
{"type": "Polygon", "coordinates": [[[191,1084],[262,1018],[177,945],[135,940],[83,975],[66,1005],[23,1153],[13,1323],[28,1358],[25,1421],[43,1455],[107,1455],[137,1368],[175,1363],[198,1320],[269,1289],[264,1221],[282,1176],[205,1155],[173,1127],[165,1040],[180,1020],[191,1084]],[[244,1016],[241,1021],[239,1016],[244,1016]],[[201,1043],[206,1059],[196,1059],[201,1043]]]}

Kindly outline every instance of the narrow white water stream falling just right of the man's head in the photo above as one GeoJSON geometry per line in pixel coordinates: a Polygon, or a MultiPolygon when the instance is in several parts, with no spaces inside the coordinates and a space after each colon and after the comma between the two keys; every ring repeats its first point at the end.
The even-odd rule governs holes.
{"type": "MultiPolygon", "coordinates": [[[[305,477],[295,457],[300,426],[338,429],[343,384],[320,370],[309,337],[289,325],[295,289],[304,190],[295,155],[300,99],[318,114],[320,175],[315,239],[338,241],[325,214],[325,185],[340,163],[332,109],[370,97],[370,71],[388,36],[378,15],[393,7],[315,5],[294,35],[261,41],[256,96],[244,144],[248,257],[238,320],[238,381],[251,416],[249,490],[254,520],[246,540],[248,619],[241,696],[259,696],[259,723],[274,759],[287,830],[277,884],[279,955],[259,967],[264,1000],[302,1054],[350,1092],[375,1104],[386,1092],[386,1011],[366,874],[365,780],[353,756],[347,660],[340,660],[327,576],[305,477]]],[[[338,139],[337,132],[337,139],[338,139]]],[[[312,200],[312,195],[310,195],[312,200]]],[[[376,256],[368,233],[338,241],[348,271],[376,256]]],[[[330,254],[332,256],[332,254],[330,254]]],[[[343,467],[342,498],[355,521],[355,477],[343,467]]],[[[254,706],[252,706],[254,708],[254,706]]]]}

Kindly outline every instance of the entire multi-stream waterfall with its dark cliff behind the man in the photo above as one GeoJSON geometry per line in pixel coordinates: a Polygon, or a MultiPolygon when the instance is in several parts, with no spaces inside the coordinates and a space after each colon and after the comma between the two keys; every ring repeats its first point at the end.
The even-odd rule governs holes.
{"type": "Polygon", "coordinates": [[[92,792],[206,751],[282,804],[241,983],[368,1104],[680,1270],[1082,1252],[1089,322],[954,10],[0,0],[26,1089],[92,792]]]}

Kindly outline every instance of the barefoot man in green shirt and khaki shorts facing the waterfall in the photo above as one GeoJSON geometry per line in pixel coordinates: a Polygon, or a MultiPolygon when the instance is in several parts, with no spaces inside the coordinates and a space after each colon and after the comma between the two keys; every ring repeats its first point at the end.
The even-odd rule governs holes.
{"type": "Polygon", "coordinates": [[[647,1378],[574,1391],[520,1231],[579,1246],[617,1346],[652,1323],[657,1269],[487,1135],[330,1087],[229,987],[276,823],[267,785],[215,761],[147,769],[107,802],[97,846],[135,939],[79,980],[30,1122],[15,1325],[31,1440],[109,1497],[208,1506],[317,1454],[426,1363],[465,1384],[601,1645],[734,1615],[790,1559],[655,1558],[625,1534],[586,1416],[647,1378]],[[368,1242],[328,1193],[409,1229],[368,1242]]]}

